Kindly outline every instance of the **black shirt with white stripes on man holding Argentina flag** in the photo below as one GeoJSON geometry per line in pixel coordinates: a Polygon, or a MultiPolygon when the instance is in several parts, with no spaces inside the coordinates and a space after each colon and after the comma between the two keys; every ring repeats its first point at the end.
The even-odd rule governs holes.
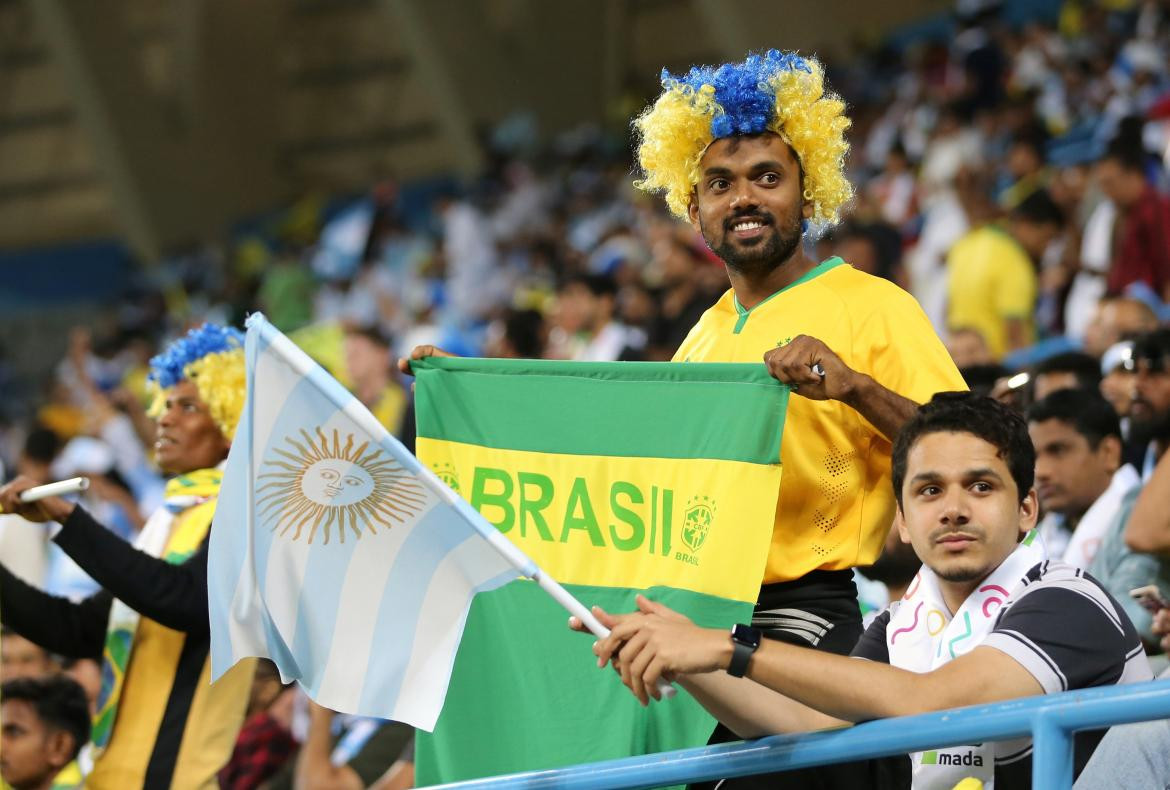
{"type": "MultiPolygon", "coordinates": [[[[889,610],[870,624],[852,655],[889,664],[889,610]]],[[[1000,609],[980,645],[1012,657],[1046,694],[1151,680],[1142,641],[1124,610],[1079,568],[1044,562],[1000,609]]],[[[1073,765],[1080,774],[1103,731],[1075,735],[1073,765]]],[[[1032,742],[996,757],[996,789],[1030,788],[1032,742]]]]}

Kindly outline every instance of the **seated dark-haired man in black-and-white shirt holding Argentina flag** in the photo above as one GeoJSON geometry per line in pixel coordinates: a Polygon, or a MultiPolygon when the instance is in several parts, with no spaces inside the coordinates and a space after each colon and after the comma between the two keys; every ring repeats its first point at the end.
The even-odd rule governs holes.
{"type": "MultiPolygon", "coordinates": [[[[923,569],[852,657],[760,640],[744,626],[729,638],[644,597],[631,614],[597,610],[612,633],[594,652],[642,703],[668,676],[742,737],[1149,680],[1117,602],[1082,570],[1044,557],[1034,462],[1027,425],[989,398],[944,393],[918,411],[894,445],[893,478],[895,523],[923,569]]],[[[1075,770],[1099,740],[1078,736],[1075,770]]],[[[913,786],[978,777],[1026,788],[1031,750],[1024,739],[917,753],[913,786]]]]}

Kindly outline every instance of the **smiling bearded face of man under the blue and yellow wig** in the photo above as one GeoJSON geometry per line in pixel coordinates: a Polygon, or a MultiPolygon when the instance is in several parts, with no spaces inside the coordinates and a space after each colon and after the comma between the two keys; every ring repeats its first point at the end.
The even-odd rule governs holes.
{"type": "Polygon", "coordinates": [[[698,167],[690,221],[715,254],[751,274],[792,257],[812,204],[801,197],[800,163],[787,143],[771,132],[724,137],[698,167]]]}

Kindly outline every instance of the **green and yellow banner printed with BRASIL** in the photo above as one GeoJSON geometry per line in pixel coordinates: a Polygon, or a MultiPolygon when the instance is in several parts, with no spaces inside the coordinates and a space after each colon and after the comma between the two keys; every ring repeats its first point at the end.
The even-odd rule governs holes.
{"type": "MultiPolygon", "coordinates": [[[[418,456],[586,606],[634,596],[746,623],[780,486],[789,391],[762,364],[428,358],[418,456]]],[[[419,784],[707,742],[684,692],[642,708],[536,584],[476,596],[419,784]]]]}

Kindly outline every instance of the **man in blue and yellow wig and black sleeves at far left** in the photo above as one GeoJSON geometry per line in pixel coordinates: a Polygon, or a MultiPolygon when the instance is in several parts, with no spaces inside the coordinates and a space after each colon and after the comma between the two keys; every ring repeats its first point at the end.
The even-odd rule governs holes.
{"type": "Polygon", "coordinates": [[[0,507],[49,525],[102,591],[80,603],[0,565],[0,619],[49,651],[102,662],[88,788],[214,788],[243,719],[254,664],[209,685],[207,536],[245,400],[243,336],[205,324],[151,360],[159,467],[173,475],[133,545],[73,502],[21,503],[35,485],[0,488],[0,507]]]}

